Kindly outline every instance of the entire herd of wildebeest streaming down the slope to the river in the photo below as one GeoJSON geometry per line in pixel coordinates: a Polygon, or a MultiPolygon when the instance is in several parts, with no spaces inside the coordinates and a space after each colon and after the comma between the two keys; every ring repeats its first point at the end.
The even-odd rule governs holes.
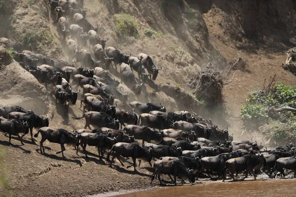
{"type": "Polygon", "coordinates": [[[84,103],[83,115],[72,118],[85,118],[85,127],[73,132],[53,129],[49,127],[46,116],[38,116],[32,109],[1,106],[0,130],[9,135],[9,144],[11,135],[16,135],[24,145],[22,138],[29,131],[34,142],[33,128],[37,128],[34,137],[41,134],[41,154],[45,153],[43,142],[48,140],[61,145],[57,154],[62,153],[63,157],[64,144],[73,144],[76,154],[81,146],[85,157],[88,157],[87,145],[97,147],[100,160],[109,150],[106,159],[110,166],[115,158],[123,166],[121,157],[132,158],[133,164],[128,167],[134,166],[135,171],[137,159],[139,167],[142,160],[152,166],[152,159],[158,159],[153,164],[151,182],[158,176],[160,183],[161,174],[168,174],[175,184],[177,177],[182,179],[182,183],[185,179],[194,183],[195,178],[206,175],[224,180],[228,173],[235,180],[234,173],[237,176],[239,172],[243,172],[245,178],[252,172],[255,179],[256,173],[262,171],[270,177],[272,174],[275,177],[278,172],[285,176],[287,172],[284,169],[288,172],[294,170],[296,175],[296,147],[292,143],[267,150],[256,141],[233,141],[227,129],[219,129],[211,119],[206,120],[193,112],[166,112],[164,105],[138,101],[127,104],[127,94],[119,92],[117,86],[123,82],[139,95],[148,77],[156,80],[161,67],[155,66],[152,59],[143,53],[133,57],[113,47],[105,49],[108,39],[97,35],[98,26],[93,27],[86,20],[82,1],[49,0],[49,4],[51,13],[57,17],[55,23],[68,50],[69,63],[29,51],[20,42],[8,38],[1,40],[16,50],[15,61],[51,91],[56,105],[64,109],[65,117],[68,116],[69,105],[76,104],[80,93],[78,86],[83,89],[80,101],[80,108],[84,103]],[[68,38],[68,33],[71,38],[68,38]],[[93,46],[91,52],[83,49],[87,40],[89,48],[93,46]],[[81,67],[77,67],[77,63],[81,67]],[[113,72],[117,72],[116,65],[120,65],[122,82],[115,80],[108,71],[112,63],[115,67],[113,72]],[[138,80],[132,69],[138,72],[138,80]],[[142,140],[142,145],[137,140],[142,140]]]}

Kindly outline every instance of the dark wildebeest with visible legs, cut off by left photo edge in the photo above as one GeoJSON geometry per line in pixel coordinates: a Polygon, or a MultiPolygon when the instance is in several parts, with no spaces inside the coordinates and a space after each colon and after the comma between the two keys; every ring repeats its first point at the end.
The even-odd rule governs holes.
{"type": "Polygon", "coordinates": [[[0,116],[0,131],[5,132],[5,134],[9,134],[9,145],[12,145],[10,142],[11,135],[18,136],[22,145],[24,145],[20,133],[24,133],[23,135],[29,133],[29,126],[27,122],[19,122],[14,119],[7,120],[0,116]]]}

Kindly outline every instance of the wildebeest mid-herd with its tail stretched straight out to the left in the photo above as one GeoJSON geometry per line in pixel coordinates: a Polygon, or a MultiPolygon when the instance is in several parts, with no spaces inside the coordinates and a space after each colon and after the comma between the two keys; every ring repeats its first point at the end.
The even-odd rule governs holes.
{"type": "Polygon", "coordinates": [[[72,117],[72,118],[81,119],[84,117],[85,117],[84,129],[86,129],[87,127],[91,129],[89,125],[98,126],[100,128],[108,127],[110,129],[116,129],[116,130],[119,129],[119,121],[112,119],[111,116],[103,112],[89,111],[83,114],[83,116],[80,118],[77,118],[77,117],[72,117]]]}

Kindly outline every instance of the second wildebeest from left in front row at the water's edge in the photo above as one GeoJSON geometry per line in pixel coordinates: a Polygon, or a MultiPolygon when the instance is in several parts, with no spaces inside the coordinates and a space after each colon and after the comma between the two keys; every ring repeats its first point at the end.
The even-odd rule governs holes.
{"type": "Polygon", "coordinates": [[[209,170],[217,171],[218,176],[222,176],[226,161],[236,157],[238,157],[238,155],[235,152],[219,154],[213,157],[204,157],[201,159],[202,169],[207,169],[207,174],[210,178],[211,175],[209,173],[209,170]]]}

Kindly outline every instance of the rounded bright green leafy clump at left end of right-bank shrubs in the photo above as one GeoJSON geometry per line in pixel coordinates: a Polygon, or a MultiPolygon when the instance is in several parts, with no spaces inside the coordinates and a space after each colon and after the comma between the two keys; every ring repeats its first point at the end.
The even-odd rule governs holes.
{"type": "Polygon", "coordinates": [[[247,104],[241,108],[240,116],[243,120],[262,121],[267,119],[268,115],[262,105],[247,104]]]}

